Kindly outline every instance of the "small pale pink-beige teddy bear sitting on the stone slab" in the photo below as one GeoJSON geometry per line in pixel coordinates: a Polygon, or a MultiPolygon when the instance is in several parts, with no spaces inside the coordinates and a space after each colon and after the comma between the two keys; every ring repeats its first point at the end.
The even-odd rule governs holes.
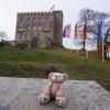
{"type": "Polygon", "coordinates": [[[63,91],[63,82],[68,78],[66,74],[50,73],[48,85],[44,89],[43,94],[38,96],[37,101],[42,105],[47,103],[51,99],[54,99],[58,107],[66,106],[66,97],[63,91]]]}

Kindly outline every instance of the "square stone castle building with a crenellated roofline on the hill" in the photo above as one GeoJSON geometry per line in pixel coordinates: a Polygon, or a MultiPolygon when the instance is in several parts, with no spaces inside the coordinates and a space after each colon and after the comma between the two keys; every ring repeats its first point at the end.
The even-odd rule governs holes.
{"type": "Polygon", "coordinates": [[[47,47],[63,43],[63,12],[18,13],[15,44],[47,47]]]}

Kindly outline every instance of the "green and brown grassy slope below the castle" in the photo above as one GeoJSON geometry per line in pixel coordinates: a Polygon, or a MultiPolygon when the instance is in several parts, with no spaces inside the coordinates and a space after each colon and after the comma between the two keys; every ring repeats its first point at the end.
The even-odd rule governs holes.
{"type": "Polygon", "coordinates": [[[96,80],[110,91],[110,61],[102,63],[98,54],[89,57],[58,47],[0,48],[0,76],[47,78],[50,72],[62,72],[69,79],[96,80]]]}

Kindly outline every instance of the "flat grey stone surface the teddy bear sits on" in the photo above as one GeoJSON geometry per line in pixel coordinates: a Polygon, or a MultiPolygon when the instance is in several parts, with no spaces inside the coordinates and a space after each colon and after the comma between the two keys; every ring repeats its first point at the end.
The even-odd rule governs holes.
{"type": "Polygon", "coordinates": [[[110,92],[86,80],[65,82],[65,108],[57,107],[54,101],[41,106],[36,98],[46,84],[45,79],[0,77],[0,110],[110,110],[110,92]]]}

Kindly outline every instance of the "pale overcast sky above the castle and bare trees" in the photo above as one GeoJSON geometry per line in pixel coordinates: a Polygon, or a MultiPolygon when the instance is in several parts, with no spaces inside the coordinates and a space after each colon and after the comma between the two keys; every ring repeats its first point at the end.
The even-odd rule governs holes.
{"type": "Polygon", "coordinates": [[[82,8],[110,13],[110,0],[0,0],[0,31],[6,31],[10,38],[14,38],[16,12],[50,11],[55,4],[55,10],[63,10],[64,25],[75,22],[82,8]]]}

